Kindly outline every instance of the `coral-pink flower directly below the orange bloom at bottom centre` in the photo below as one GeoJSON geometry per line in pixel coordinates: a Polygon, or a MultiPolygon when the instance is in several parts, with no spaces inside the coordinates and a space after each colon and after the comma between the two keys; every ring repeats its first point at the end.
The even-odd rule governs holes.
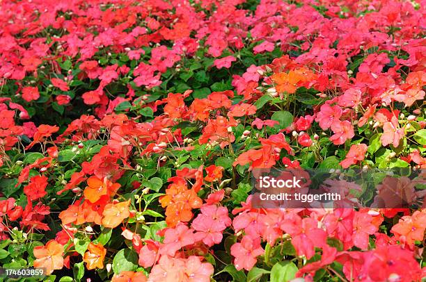
{"type": "Polygon", "coordinates": [[[176,251],[182,247],[194,244],[194,230],[189,229],[184,224],[179,224],[175,228],[167,229],[164,233],[164,245],[161,246],[161,255],[175,256],[176,251]]]}

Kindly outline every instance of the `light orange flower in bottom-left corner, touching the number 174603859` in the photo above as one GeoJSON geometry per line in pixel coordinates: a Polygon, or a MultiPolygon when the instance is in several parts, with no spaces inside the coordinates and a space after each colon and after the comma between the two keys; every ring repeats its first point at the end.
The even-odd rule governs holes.
{"type": "Polygon", "coordinates": [[[63,245],[55,240],[47,242],[45,246],[37,246],[33,250],[36,257],[34,267],[46,268],[46,274],[51,274],[54,269],[62,269],[63,267],[63,245]]]}

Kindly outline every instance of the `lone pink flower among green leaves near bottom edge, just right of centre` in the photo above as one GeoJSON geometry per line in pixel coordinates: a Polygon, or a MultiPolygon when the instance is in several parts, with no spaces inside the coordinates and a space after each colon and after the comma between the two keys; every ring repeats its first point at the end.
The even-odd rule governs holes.
{"type": "Polygon", "coordinates": [[[264,249],[260,247],[260,238],[252,239],[244,236],[239,243],[235,243],[230,248],[232,256],[235,257],[234,265],[237,270],[250,270],[256,264],[257,257],[264,254],[264,249]]]}

